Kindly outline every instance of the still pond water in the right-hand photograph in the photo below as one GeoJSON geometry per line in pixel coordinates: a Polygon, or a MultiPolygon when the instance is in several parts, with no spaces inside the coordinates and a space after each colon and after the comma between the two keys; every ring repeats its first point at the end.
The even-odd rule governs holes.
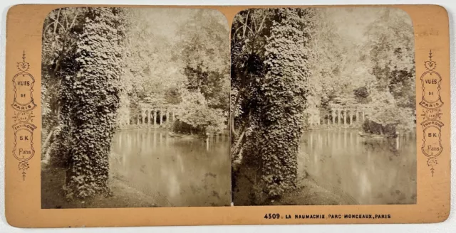
{"type": "Polygon", "coordinates": [[[359,136],[360,129],[306,131],[299,175],[346,197],[351,204],[416,203],[415,132],[397,139],[359,136]]]}

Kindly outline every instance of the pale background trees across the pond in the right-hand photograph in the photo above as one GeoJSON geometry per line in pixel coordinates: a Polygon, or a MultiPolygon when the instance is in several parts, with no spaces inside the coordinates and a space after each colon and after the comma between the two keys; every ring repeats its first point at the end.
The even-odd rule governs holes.
{"type": "Polygon", "coordinates": [[[314,72],[306,114],[324,116],[331,109],[358,109],[371,123],[398,126],[394,131],[413,130],[415,65],[410,18],[393,9],[353,11],[321,9],[316,13],[318,40],[312,45],[314,72]],[[348,24],[346,20],[354,15],[366,23],[348,24]],[[390,108],[396,117],[383,114],[390,108]]]}

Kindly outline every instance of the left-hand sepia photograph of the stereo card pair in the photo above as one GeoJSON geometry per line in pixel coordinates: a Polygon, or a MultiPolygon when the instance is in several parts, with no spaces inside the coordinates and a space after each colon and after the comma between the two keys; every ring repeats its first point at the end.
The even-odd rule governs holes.
{"type": "Polygon", "coordinates": [[[51,11],[41,208],[231,205],[229,60],[216,10],[51,11]]]}

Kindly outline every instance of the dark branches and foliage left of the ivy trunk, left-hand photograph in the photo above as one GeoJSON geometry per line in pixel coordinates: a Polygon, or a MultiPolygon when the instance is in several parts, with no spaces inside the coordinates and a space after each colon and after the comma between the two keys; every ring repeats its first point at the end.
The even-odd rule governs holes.
{"type": "Polygon", "coordinates": [[[76,74],[76,42],[86,9],[52,11],[43,27],[41,103],[43,157],[53,166],[68,165],[71,77],[76,74]]]}

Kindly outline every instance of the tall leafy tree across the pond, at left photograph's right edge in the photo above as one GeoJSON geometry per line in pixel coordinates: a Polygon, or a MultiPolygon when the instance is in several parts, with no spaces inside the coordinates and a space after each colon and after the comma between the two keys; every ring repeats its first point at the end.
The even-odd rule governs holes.
{"type": "Polygon", "coordinates": [[[191,126],[190,133],[220,133],[228,124],[229,32],[227,21],[219,16],[217,11],[199,10],[180,31],[187,82],[180,92],[179,121],[191,126]]]}

